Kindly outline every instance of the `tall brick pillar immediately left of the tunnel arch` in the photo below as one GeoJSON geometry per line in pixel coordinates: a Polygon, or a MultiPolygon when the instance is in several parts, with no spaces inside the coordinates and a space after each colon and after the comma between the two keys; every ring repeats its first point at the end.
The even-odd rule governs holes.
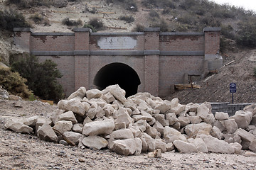
{"type": "Polygon", "coordinates": [[[90,83],[90,28],[75,28],[75,91],[84,86],[89,89],[90,83]]]}

